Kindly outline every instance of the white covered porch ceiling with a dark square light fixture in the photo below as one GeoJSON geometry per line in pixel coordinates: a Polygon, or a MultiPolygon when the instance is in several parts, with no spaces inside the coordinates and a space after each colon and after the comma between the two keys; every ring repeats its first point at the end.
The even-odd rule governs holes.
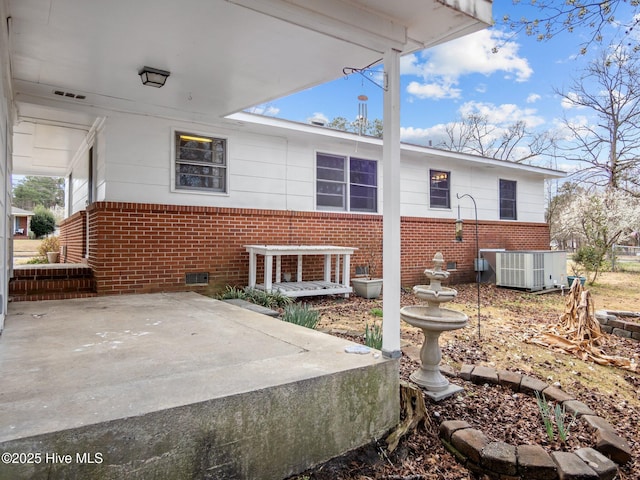
{"type": "Polygon", "coordinates": [[[491,22],[491,0],[0,1],[22,175],[66,175],[109,111],[212,122],[491,22]]]}

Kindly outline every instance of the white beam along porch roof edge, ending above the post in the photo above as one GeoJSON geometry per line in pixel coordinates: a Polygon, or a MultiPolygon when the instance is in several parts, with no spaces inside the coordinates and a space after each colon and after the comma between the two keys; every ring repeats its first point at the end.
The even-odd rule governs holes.
{"type": "Polygon", "coordinates": [[[381,54],[388,48],[402,51],[407,44],[403,25],[340,0],[227,1],[381,54]]]}

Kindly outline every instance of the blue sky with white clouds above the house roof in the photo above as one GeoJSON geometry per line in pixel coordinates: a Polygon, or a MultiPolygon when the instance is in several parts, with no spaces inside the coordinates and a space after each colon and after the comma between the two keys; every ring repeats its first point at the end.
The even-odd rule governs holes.
{"type": "MultiPolygon", "coordinates": [[[[508,0],[494,2],[493,13],[496,19],[505,13],[512,18],[539,15],[531,7],[514,6],[508,0]]],[[[622,18],[623,14],[617,12],[620,20],[627,20],[622,18]]],[[[531,130],[558,129],[563,116],[571,118],[578,112],[563,105],[554,88],[568,91],[572,77],[577,77],[606,45],[591,45],[586,55],[578,55],[585,33],[576,30],[539,42],[497,24],[403,57],[402,140],[422,145],[431,141],[436,145],[443,138],[445,125],[465,113],[486,114],[495,125],[524,120],[531,130]],[[492,51],[494,47],[496,53],[492,51]]],[[[605,30],[605,34],[612,36],[616,33],[615,26],[605,30]]],[[[299,122],[338,116],[354,120],[358,115],[357,98],[362,94],[369,98],[368,118],[382,119],[382,90],[357,74],[261,105],[253,111],[299,122]]],[[[558,168],[568,170],[571,166],[558,168]]]]}

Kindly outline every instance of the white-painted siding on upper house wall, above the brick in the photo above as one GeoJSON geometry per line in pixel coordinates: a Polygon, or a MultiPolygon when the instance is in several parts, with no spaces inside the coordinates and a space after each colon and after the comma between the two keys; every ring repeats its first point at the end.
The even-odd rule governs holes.
{"type": "MultiPolygon", "coordinates": [[[[377,165],[377,207],[384,197],[382,140],[372,137],[241,113],[215,125],[190,124],[117,114],[105,119],[96,132],[96,144],[108,145],[94,153],[95,201],[133,202],[323,211],[316,203],[318,154],[357,157],[377,165]],[[176,188],[175,132],[221,138],[226,141],[227,173],[222,192],[176,188]]],[[[85,209],[89,182],[87,151],[69,172],[73,204],[69,215],[85,209]]],[[[410,217],[451,219],[457,215],[456,194],[472,195],[483,220],[500,218],[499,182],[517,184],[517,218],[544,223],[545,180],[561,172],[435,148],[403,145],[401,154],[401,213],[410,217]],[[449,205],[430,205],[430,171],[449,174],[449,205]]],[[[345,209],[344,211],[349,211],[345,209]]],[[[472,218],[471,206],[461,213],[472,218]]]]}

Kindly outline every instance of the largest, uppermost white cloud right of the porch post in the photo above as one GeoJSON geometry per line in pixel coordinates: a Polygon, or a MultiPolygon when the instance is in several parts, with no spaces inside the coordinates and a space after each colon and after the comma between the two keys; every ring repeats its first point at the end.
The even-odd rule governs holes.
{"type": "MultiPolygon", "coordinates": [[[[499,30],[482,30],[446,44],[403,57],[400,72],[403,75],[421,77],[429,88],[413,86],[413,92],[421,92],[419,98],[442,97],[443,91],[457,92],[454,87],[463,75],[480,73],[490,76],[502,72],[505,78],[525,82],[533,70],[526,58],[518,55],[519,44],[508,39],[499,30]],[[435,88],[435,86],[441,88],[435,88]],[[436,95],[432,97],[429,93],[436,95]]],[[[418,82],[412,82],[418,83],[418,82]]],[[[410,85],[412,85],[410,84],[410,85]]],[[[415,94],[408,91],[410,94],[415,94]]]]}

